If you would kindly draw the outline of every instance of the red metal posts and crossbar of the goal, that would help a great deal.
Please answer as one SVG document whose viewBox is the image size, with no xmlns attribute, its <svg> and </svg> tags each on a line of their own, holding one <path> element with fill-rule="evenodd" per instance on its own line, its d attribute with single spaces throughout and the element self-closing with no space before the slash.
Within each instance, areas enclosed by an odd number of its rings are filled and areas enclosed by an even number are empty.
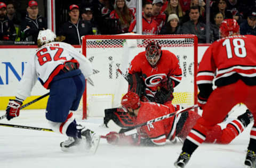
<svg viewBox="0 0 256 168">
<path fill-rule="evenodd" d="M 198 89 L 196 85 L 196 74 L 198 68 L 198 38 L 196 35 L 86 35 L 82 37 L 82 54 L 86 57 L 86 39 L 178 39 L 178 38 L 193 38 L 194 39 L 194 104 L 197 104 Z M 85 82 L 87 85 L 87 82 Z M 83 94 L 83 110 L 82 120 L 87 119 L 87 87 L 85 87 Z"/>
</svg>

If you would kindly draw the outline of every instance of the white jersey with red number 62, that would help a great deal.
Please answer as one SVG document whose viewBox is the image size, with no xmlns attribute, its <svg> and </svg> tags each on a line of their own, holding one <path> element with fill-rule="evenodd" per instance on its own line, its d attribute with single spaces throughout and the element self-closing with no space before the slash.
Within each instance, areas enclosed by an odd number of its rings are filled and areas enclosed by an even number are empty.
<svg viewBox="0 0 256 168">
<path fill-rule="evenodd" d="M 50 82 L 63 68 L 63 63 L 72 59 L 77 60 L 85 78 L 93 73 L 90 61 L 67 43 L 52 42 L 36 49 L 25 67 L 16 97 L 25 100 L 30 96 L 38 78 L 49 89 Z"/>
</svg>

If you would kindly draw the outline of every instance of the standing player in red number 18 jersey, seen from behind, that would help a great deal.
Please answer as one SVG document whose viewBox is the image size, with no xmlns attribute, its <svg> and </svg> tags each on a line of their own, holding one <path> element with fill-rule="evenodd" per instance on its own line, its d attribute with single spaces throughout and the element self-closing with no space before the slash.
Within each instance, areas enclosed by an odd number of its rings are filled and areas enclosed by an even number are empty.
<svg viewBox="0 0 256 168">
<path fill-rule="evenodd" d="M 234 19 L 224 20 L 220 25 L 220 33 L 223 38 L 206 50 L 199 64 L 198 105 L 203 109 L 203 114 L 187 136 L 182 152 L 174 163 L 176 167 L 186 166 L 191 154 L 205 141 L 207 132 L 223 121 L 236 104 L 245 104 L 253 114 L 254 121 L 256 119 L 256 37 L 239 35 L 239 26 Z M 215 79 L 214 72 L 217 74 Z M 213 81 L 217 86 L 214 90 Z M 244 125 L 250 122 L 242 120 Z M 256 167 L 255 130 L 254 123 L 244 162 L 247 167 Z"/>
</svg>

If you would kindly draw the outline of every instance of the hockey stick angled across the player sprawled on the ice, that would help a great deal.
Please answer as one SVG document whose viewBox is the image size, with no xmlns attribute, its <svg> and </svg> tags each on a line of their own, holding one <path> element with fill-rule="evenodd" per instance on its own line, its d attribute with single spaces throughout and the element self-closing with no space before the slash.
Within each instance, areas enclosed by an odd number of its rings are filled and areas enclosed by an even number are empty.
<svg viewBox="0 0 256 168">
<path fill-rule="evenodd" d="M 148 125 L 148 124 L 152 124 L 154 122 L 157 122 L 157 121 L 161 121 L 161 120 L 164 120 L 164 119 L 168 119 L 174 115 L 177 115 L 177 114 L 180 114 L 180 113 L 183 113 L 183 112 L 186 112 L 186 111 L 189 111 L 189 110 L 192 110 L 194 108 L 197 108 L 198 105 L 193 105 L 191 107 L 187 107 L 187 108 L 183 108 L 179 111 L 175 111 L 173 113 L 169 113 L 169 114 L 166 114 L 166 115 L 162 115 L 162 116 L 159 116 L 153 120 L 149 120 L 145 123 L 141 123 L 139 125 L 135 125 L 133 127 L 130 127 L 130 128 L 122 128 L 122 127 L 119 127 L 113 120 L 109 120 L 109 122 L 107 123 L 107 127 L 108 128 L 114 128 L 116 132 L 118 133 L 124 133 L 125 135 L 131 135 L 133 133 L 136 133 L 137 132 L 137 128 L 139 127 L 142 127 L 144 125 Z"/>
</svg>

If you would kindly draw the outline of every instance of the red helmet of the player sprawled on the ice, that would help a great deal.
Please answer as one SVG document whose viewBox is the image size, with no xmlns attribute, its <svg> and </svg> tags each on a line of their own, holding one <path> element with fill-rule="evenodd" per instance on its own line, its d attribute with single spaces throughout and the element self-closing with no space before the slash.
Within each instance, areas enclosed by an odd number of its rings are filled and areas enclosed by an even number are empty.
<svg viewBox="0 0 256 168">
<path fill-rule="evenodd" d="M 140 107 L 140 97 L 137 94 L 128 91 L 128 93 L 123 96 L 121 104 L 125 110 L 127 110 L 127 108 L 132 108 L 132 110 L 135 110 Z"/>
</svg>

